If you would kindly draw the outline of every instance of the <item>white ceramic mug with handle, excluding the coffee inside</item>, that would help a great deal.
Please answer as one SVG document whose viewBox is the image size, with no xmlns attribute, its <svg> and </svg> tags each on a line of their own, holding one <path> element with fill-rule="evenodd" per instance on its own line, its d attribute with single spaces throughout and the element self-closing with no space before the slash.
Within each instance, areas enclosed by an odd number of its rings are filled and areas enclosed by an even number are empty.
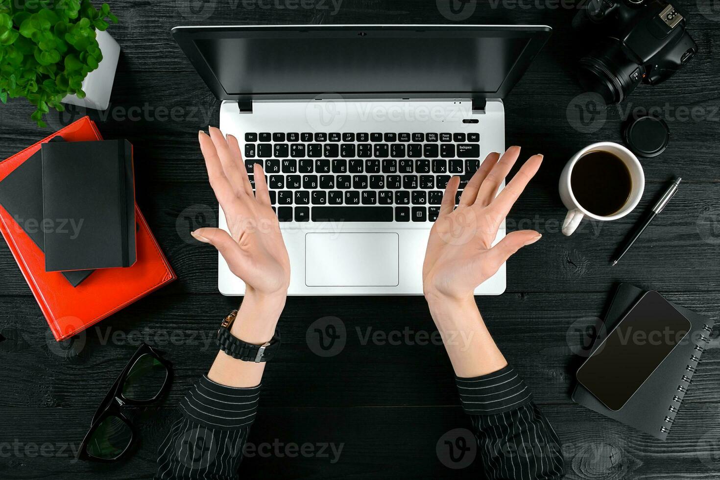
<svg viewBox="0 0 720 480">
<path fill-rule="evenodd" d="M 572 186 L 570 186 L 570 174 L 572 173 L 572 168 L 575 166 L 575 163 L 577 163 L 577 160 L 580 160 L 583 155 L 593 151 L 609 152 L 623 160 L 630 171 L 630 178 L 632 179 L 632 191 L 630 192 L 628 200 L 618 212 L 608 215 L 607 217 L 596 215 L 583 208 L 577 199 L 575 199 L 575 195 L 572 194 Z M 603 222 L 624 217 L 637 206 L 642 198 L 644 189 L 645 174 L 642 171 L 639 160 L 630 150 L 623 145 L 613 142 L 598 142 L 593 143 L 593 145 L 588 145 L 570 158 L 570 161 L 567 162 L 567 165 L 560 175 L 560 199 L 562 199 L 562 203 L 568 210 L 565 221 L 562 223 L 563 235 L 572 235 L 585 217 L 594 218 Z"/>
</svg>

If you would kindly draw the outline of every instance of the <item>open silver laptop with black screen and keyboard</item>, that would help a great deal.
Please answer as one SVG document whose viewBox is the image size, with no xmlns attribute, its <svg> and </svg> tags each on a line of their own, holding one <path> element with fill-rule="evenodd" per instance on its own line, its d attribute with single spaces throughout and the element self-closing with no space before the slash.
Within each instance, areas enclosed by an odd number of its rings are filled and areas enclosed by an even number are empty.
<svg viewBox="0 0 720 480">
<path fill-rule="evenodd" d="M 452 175 L 505 150 L 503 100 L 546 26 L 176 27 L 218 99 L 220 130 L 264 165 L 289 294 L 422 294 Z M 251 178 L 252 181 L 252 178 Z M 220 210 L 220 227 L 227 229 Z M 497 243 L 505 236 L 500 227 Z M 222 256 L 218 288 L 242 295 Z M 505 291 L 505 266 L 475 294 Z"/>
</svg>

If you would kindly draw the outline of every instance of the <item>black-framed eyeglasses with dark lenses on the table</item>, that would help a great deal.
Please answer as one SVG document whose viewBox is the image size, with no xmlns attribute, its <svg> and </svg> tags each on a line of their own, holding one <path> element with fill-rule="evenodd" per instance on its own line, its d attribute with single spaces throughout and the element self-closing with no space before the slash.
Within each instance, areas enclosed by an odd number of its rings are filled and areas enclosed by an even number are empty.
<svg viewBox="0 0 720 480">
<path fill-rule="evenodd" d="M 140 345 L 95 412 L 78 458 L 112 462 L 125 456 L 138 435 L 122 407 L 158 400 L 170 387 L 171 372 L 170 362 L 150 345 Z"/>
</svg>

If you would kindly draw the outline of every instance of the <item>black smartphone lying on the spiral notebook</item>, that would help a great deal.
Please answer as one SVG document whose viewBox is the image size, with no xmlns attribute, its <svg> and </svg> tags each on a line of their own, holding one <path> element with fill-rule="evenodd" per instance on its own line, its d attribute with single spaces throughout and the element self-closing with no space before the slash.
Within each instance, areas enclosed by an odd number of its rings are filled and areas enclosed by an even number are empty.
<svg viewBox="0 0 720 480">
<path fill-rule="evenodd" d="M 657 291 L 645 293 L 600 340 L 577 381 L 617 412 L 679 345 L 692 325 Z"/>
</svg>

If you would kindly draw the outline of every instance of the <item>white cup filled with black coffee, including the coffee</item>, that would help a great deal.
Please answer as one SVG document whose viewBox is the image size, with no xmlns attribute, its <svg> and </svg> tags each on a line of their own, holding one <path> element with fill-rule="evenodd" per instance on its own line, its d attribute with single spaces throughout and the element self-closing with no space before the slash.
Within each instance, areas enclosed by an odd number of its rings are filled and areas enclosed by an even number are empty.
<svg viewBox="0 0 720 480">
<path fill-rule="evenodd" d="M 572 155 L 560 175 L 560 199 L 567 216 L 563 235 L 572 235 L 585 217 L 601 222 L 632 212 L 642 198 L 645 175 L 623 145 L 598 142 Z"/>
</svg>

